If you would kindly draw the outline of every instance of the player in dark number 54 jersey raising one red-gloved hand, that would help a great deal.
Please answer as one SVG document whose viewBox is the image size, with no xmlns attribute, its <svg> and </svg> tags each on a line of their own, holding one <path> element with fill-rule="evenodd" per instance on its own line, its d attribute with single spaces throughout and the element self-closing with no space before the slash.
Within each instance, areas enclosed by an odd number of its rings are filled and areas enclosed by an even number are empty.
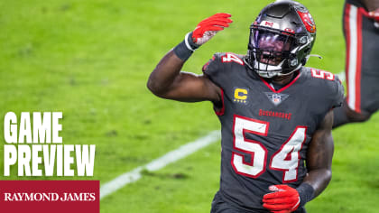
<svg viewBox="0 0 379 213">
<path fill-rule="evenodd" d="M 341 105 L 343 87 L 328 71 L 303 67 L 316 25 L 294 1 L 263 8 L 250 26 L 246 55 L 216 53 L 203 75 L 180 71 L 230 17 L 200 22 L 162 58 L 147 86 L 158 97 L 213 103 L 222 152 L 212 213 L 305 212 L 331 178 L 332 108 Z"/>
</svg>

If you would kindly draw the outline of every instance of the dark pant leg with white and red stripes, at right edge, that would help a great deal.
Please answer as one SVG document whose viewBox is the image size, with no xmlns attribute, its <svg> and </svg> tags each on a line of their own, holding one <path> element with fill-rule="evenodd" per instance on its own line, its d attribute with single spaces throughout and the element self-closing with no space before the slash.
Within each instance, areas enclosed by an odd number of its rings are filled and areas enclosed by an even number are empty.
<svg viewBox="0 0 379 213">
<path fill-rule="evenodd" d="M 379 28 L 359 8 L 347 4 L 344 12 L 347 105 L 356 112 L 374 113 L 379 108 Z"/>
</svg>

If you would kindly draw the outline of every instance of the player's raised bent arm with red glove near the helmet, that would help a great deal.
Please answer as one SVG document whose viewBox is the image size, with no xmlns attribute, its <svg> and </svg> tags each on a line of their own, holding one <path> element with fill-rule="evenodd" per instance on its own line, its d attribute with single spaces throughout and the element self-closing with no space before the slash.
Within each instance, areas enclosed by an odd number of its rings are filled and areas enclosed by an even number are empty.
<svg viewBox="0 0 379 213">
<path fill-rule="evenodd" d="M 203 20 L 193 32 L 186 35 L 183 42 L 162 58 L 147 82 L 147 87 L 153 94 L 187 102 L 210 100 L 217 103 L 221 100 L 220 88 L 206 75 L 196 75 L 180 69 L 194 50 L 232 22 L 230 16 L 214 14 Z"/>
</svg>

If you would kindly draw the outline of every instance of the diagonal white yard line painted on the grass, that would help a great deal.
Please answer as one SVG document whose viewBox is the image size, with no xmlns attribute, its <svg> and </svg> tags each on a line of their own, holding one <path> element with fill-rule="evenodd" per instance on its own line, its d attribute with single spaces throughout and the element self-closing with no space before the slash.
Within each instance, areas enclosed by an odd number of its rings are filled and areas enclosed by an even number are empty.
<svg viewBox="0 0 379 213">
<path fill-rule="evenodd" d="M 178 149 L 164 154 L 162 157 L 153 160 L 153 162 L 149 162 L 143 166 L 135 168 L 133 171 L 127 171 L 124 174 L 121 174 L 116 177 L 116 179 L 106 182 L 100 187 L 100 199 L 104 199 L 106 196 L 114 193 L 116 190 L 120 190 L 131 182 L 138 181 L 142 177 L 141 171 L 160 170 L 171 162 L 177 162 L 180 159 L 187 157 L 189 154 L 195 153 L 199 149 L 217 142 L 220 138 L 220 131 L 212 131 L 194 142 L 184 144 Z"/>
</svg>

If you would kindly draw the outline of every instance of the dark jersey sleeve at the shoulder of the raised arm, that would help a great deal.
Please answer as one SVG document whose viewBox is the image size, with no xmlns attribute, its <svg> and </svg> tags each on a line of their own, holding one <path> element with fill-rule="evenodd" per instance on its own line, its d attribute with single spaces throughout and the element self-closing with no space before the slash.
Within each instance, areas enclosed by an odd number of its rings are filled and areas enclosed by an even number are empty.
<svg viewBox="0 0 379 213">
<path fill-rule="evenodd" d="M 221 87 L 223 80 L 225 77 L 224 74 L 224 66 L 221 62 L 222 53 L 215 53 L 212 56 L 212 59 L 208 60 L 206 64 L 203 66 L 203 73 L 208 76 L 208 78 L 215 83 L 218 87 Z"/>
</svg>

